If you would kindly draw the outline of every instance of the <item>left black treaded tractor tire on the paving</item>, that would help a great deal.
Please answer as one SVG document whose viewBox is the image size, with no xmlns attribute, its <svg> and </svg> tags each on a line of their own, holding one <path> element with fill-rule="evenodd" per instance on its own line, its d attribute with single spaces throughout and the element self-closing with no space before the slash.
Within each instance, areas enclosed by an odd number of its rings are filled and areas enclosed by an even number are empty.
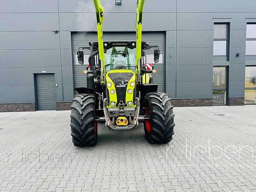
<svg viewBox="0 0 256 192">
<path fill-rule="evenodd" d="M 98 124 L 95 116 L 95 95 L 75 95 L 71 105 L 71 135 L 74 146 L 84 147 L 97 143 Z"/>
</svg>

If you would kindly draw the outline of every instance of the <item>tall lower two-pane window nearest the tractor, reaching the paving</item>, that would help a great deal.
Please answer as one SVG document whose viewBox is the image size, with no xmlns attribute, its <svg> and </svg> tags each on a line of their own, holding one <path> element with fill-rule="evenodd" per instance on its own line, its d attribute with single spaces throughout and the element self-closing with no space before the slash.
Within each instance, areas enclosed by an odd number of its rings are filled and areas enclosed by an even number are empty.
<svg viewBox="0 0 256 192">
<path fill-rule="evenodd" d="M 213 67 L 212 104 L 227 104 L 227 67 Z"/>
</svg>

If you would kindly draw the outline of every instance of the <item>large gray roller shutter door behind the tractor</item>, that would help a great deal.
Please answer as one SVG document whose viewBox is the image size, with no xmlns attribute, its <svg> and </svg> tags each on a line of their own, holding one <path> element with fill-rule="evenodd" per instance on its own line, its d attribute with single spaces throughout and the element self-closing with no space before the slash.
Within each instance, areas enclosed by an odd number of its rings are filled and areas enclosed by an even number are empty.
<svg viewBox="0 0 256 192">
<path fill-rule="evenodd" d="M 104 32 L 104 41 L 115 40 L 136 40 L 136 34 L 133 32 Z M 150 45 L 158 45 L 161 51 L 162 63 L 153 64 L 154 69 L 157 70 L 156 74 L 152 74 L 154 83 L 158 84 L 158 91 L 165 92 L 165 49 L 166 38 L 165 32 L 143 32 L 142 40 L 148 42 Z M 88 42 L 97 41 L 96 32 L 72 32 L 71 33 L 71 47 L 73 58 L 73 83 L 74 88 L 86 86 L 86 75 L 83 74 L 83 70 L 86 65 L 76 65 L 75 55 L 78 51 L 78 47 L 89 46 Z M 146 61 L 150 63 L 152 61 L 152 54 L 154 54 L 154 48 L 146 50 Z M 90 55 L 89 50 L 84 50 L 84 55 Z M 148 56 L 147 56 L 148 55 Z M 148 62 L 149 61 L 149 62 Z"/>
</svg>

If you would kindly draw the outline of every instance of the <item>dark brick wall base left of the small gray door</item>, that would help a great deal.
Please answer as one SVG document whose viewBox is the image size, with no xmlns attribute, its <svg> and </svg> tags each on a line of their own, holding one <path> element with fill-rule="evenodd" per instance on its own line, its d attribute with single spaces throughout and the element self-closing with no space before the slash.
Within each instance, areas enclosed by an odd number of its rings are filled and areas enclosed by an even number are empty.
<svg viewBox="0 0 256 192">
<path fill-rule="evenodd" d="M 36 111 L 35 103 L 0 103 L 0 112 Z"/>
</svg>

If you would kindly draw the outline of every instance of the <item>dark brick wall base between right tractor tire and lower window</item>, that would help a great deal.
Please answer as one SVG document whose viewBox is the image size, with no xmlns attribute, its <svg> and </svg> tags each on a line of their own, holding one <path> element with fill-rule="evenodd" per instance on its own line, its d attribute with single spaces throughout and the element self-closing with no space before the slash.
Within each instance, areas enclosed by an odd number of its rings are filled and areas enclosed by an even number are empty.
<svg viewBox="0 0 256 192">
<path fill-rule="evenodd" d="M 201 107 L 212 106 L 212 98 L 202 99 L 172 99 L 174 107 Z"/>
</svg>

